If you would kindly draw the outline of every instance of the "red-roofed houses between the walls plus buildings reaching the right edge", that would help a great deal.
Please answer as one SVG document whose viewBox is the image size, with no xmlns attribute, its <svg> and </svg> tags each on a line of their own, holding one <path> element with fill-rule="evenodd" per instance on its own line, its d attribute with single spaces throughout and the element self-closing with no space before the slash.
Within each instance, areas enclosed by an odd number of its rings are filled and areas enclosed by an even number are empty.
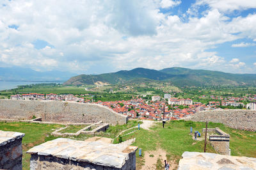
<svg viewBox="0 0 256 170">
<path fill-rule="evenodd" d="M 209 104 L 202 104 L 201 102 L 193 102 L 190 98 L 172 98 L 170 95 L 164 95 L 164 99 L 168 98 L 168 105 L 165 100 L 161 100 L 160 96 L 153 96 L 151 102 L 143 100 L 142 98 L 132 98 L 131 100 L 120 100 L 115 102 L 102 102 L 98 101 L 95 104 L 105 105 L 120 114 L 125 114 L 131 118 L 140 118 L 147 120 L 179 120 L 186 116 L 193 115 L 195 112 L 205 110 L 221 110 L 220 105 L 234 105 L 240 106 L 241 102 L 232 100 L 233 97 L 222 98 L 225 99 L 221 102 L 210 101 Z M 216 98 L 217 99 L 217 98 Z M 246 105 L 246 109 L 256 110 L 256 96 L 250 98 L 254 101 Z M 88 101 L 89 102 L 89 101 Z M 180 105 L 186 108 L 180 109 Z M 242 105 L 244 107 L 244 104 Z"/>
</svg>

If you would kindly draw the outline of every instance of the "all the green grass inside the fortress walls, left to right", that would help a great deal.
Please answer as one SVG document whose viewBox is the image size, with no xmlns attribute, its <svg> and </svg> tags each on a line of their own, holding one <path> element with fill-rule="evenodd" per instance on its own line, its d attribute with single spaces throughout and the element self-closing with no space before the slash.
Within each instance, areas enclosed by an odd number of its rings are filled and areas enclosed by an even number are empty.
<svg viewBox="0 0 256 170">
<path fill-rule="evenodd" d="M 129 121 L 126 125 L 110 126 L 106 132 L 100 132 L 98 136 L 110 137 L 118 139 L 117 135 L 122 130 L 132 128 L 138 125 L 138 121 Z M 178 162 L 184 151 L 204 151 L 204 141 L 194 141 L 192 135 L 189 134 L 190 126 L 193 130 L 202 132 L 202 128 L 205 127 L 205 123 L 191 123 L 186 121 L 170 121 L 166 123 L 164 128 L 161 123 L 156 123 L 156 126 L 151 130 L 138 130 L 132 128 L 127 130 L 124 134 L 133 132 L 129 135 L 122 135 L 123 141 L 131 138 L 136 138 L 134 146 L 138 146 L 142 149 L 144 155 L 145 151 L 157 150 L 162 148 L 166 151 L 166 157 L 168 160 L 174 160 Z M 0 130 L 22 132 L 26 135 L 22 140 L 23 153 L 22 158 L 24 169 L 29 169 L 30 155 L 25 152 L 38 144 L 44 143 L 57 137 L 53 137 L 50 133 L 56 128 L 63 127 L 61 125 L 42 125 L 38 123 L 3 123 L 0 122 Z M 236 156 L 256 157 L 256 132 L 248 132 L 244 130 L 235 130 L 233 128 L 226 127 L 221 123 L 209 123 L 209 128 L 220 127 L 221 130 L 230 134 L 230 149 L 231 154 Z M 80 129 L 80 126 L 74 126 L 74 130 Z M 76 131 L 74 130 L 74 131 Z M 73 132 L 73 131 L 72 131 Z M 77 137 L 69 137 L 71 139 L 84 140 L 92 135 L 78 135 Z M 118 143 L 118 140 L 116 140 Z M 207 144 L 207 152 L 216 153 L 210 144 Z M 153 155 L 154 156 L 154 155 Z M 143 165 L 143 157 L 138 157 L 138 151 L 136 153 L 136 164 L 138 167 Z M 159 162 L 160 163 L 160 162 Z M 156 168 L 161 169 L 159 164 Z"/>
</svg>

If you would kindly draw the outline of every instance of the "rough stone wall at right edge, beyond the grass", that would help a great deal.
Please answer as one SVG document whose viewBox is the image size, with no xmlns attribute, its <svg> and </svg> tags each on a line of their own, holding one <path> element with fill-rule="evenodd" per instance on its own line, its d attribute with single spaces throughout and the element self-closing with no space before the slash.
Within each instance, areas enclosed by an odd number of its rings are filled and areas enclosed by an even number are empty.
<svg viewBox="0 0 256 170">
<path fill-rule="evenodd" d="M 250 110 L 201 111 L 187 120 L 211 121 L 231 128 L 256 131 L 256 111 Z"/>
</svg>

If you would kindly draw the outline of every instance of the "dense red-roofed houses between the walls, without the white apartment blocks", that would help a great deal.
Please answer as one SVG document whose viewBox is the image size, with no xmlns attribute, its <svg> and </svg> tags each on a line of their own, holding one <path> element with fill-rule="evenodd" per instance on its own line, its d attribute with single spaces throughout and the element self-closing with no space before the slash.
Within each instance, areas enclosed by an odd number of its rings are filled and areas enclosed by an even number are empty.
<svg viewBox="0 0 256 170">
<path fill-rule="evenodd" d="M 156 101 L 148 103 L 142 98 L 132 98 L 131 100 L 120 100 L 115 102 L 98 101 L 95 104 L 104 105 L 114 111 L 127 115 L 131 118 L 143 120 L 179 120 L 186 116 L 195 114 L 198 111 L 204 111 L 207 106 L 201 103 L 186 105 L 188 108 L 180 109 L 179 105 L 166 104 L 166 101 Z M 214 108 L 211 108 L 214 109 Z"/>
</svg>

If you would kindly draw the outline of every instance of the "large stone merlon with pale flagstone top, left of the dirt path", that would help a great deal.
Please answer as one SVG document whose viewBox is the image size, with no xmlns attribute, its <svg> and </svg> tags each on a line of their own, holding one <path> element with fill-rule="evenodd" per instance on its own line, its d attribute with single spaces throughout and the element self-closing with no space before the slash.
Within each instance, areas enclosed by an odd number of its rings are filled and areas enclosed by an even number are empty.
<svg viewBox="0 0 256 170">
<path fill-rule="evenodd" d="M 80 164 L 84 165 L 84 168 L 92 165 L 93 168 L 100 166 L 113 169 L 135 169 L 134 160 L 137 149 L 137 146 L 127 146 L 125 144 L 58 138 L 35 146 L 27 153 L 31 154 L 31 165 L 33 165 L 31 169 L 36 169 L 35 167 L 42 168 L 40 159 L 44 160 L 44 164 L 49 164 L 50 167 L 58 167 L 58 164 L 60 164 L 58 159 L 63 159 L 68 160 L 67 167 L 72 167 L 71 162 L 73 162 L 72 164 L 75 162 L 76 166 Z M 56 164 L 47 162 L 46 160 L 49 158 L 52 159 L 51 162 Z M 63 162 L 63 160 L 61 161 Z"/>
</svg>

